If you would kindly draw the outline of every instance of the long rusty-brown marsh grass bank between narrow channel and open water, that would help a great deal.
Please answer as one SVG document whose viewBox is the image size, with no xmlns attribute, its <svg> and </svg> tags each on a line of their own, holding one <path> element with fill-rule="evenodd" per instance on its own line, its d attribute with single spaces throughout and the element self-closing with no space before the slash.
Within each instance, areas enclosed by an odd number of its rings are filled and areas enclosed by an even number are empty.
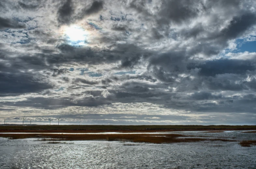
<svg viewBox="0 0 256 169">
<path fill-rule="evenodd" d="M 38 138 L 41 141 L 107 140 L 134 143 L 181 143 L 198 141 L 234 141 L 221 138 L 198 138 L 181 134 L 0 134 L 9 139 Z"/>
</svg>

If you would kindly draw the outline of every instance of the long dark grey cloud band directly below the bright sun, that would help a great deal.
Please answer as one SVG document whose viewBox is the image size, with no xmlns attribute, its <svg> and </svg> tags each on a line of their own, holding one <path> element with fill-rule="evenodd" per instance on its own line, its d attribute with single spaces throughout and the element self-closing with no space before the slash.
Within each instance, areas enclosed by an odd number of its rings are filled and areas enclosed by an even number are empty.
<svg viewBox="0 0 256 169">
<path fill-rule="evenodd" d="M 58 45 L 61 53 L 42 53 L 36 56 L 42 62 L 47 60 L 48 64 L 64 64 L 72 62 L 80 62 L 87 64 L 114 63 L 121 60 L 119 69 L 133 68 L 141 62 L 141 59 L 149 58 L 152 53 L 149 50 L 141 49 L 133 44 L 117 44 L 111 46 L 112 49 L 101 50 L 95 47 L 74 47 L 68 44 Z M 24 56 L 26 58 L 26 56 Z M 44 62 L 45 63 L 45 62 Z"/>
</svg>

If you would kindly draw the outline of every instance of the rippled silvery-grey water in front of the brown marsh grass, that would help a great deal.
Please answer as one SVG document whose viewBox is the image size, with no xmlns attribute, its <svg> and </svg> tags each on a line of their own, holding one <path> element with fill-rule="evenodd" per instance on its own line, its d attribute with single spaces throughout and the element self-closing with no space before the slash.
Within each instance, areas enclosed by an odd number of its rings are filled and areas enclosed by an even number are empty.
<svg viewBox="0 0 256 169">
<path fill-rule="evenodd" d="M 239 144 L 242 140 L 256 140 L 255 133 L 192 131 L 167 134 L 207 140 L 151 144 L 0 138 L 0 168 L 256 168 L 256 146 Z"/>
</svg>

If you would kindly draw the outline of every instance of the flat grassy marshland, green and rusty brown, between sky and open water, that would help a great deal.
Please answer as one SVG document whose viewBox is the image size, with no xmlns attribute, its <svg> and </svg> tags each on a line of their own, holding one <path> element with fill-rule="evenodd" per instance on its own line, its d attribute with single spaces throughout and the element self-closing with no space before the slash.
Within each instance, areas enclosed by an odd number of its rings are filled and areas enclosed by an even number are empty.
<svg viewBox="0 0 256 169">
<path fill-rule="evenodd" d="M 233 138 L 210 138 L 208 136 L 188 136 L 179 132 L 203 131 L 207 133 L 221 133 L 227 130 L 256 130 L 255 125 L 0 125 L 0 137 L 8 139 L 37 138 L 46 143 L 64 143 L 63 141 L 77 140 L 107 140 L 129 141 L 134 143 L 184 143 L 198 141 L 228 141 L 238 142 Z M 102 134 L 101 132 L 120 132 L 118 134 Z M 125 134 L 131 133 L 132 134 Z M 144 134 L 141 134 L 141 133 Z M 254 133 L 253 131 L 248 131 Z M 16 133 L 16 134 L 15 134 Z M 18 134 L 17 134 L 18 133 Z M 57 134 L 64 133 L 64 134 Z M 71 134 L 74 133 L 74 134 Z M 78 133 L 78 134 L 76 134 Z M 80 134 L 79 134 L 80 133 Z M 82 134 L 81 134 L 82 133 Z M 98 133 L 98 134 L 89 134 Z M 48 141 L 48 142 L 47 142 Z M 65 142 L 69 144 L 69 142 Z M 255 146 L 255 140 L 243 140 L 239 143 L 243 147 Z"/>
</svg>

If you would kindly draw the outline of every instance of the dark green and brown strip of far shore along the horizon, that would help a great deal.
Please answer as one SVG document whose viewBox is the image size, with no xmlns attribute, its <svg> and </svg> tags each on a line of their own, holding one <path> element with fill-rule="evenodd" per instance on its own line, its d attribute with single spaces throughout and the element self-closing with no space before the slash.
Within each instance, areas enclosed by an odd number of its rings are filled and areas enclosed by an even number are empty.
<svg viewBox="0 0 256 169">
<path fill-rule="evenodd" d="M 0 125 L 0 133 L 99 133 L 256 130 L 256 125 Z"/>
</svg>

